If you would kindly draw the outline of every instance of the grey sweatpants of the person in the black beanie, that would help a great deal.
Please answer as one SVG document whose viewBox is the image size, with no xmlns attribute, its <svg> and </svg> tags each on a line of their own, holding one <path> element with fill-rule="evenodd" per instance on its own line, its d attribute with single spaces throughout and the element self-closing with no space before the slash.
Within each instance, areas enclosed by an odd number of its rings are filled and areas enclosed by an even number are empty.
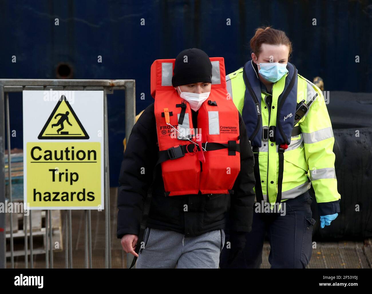
<svg viewBox="0 0 372 294">
<path fill-rule="evenodd" d="M 143 242 L 137 268 L 218 268 L 225 232 L 185 238 L 174 231 L 146 228 Z"/>
</svg>

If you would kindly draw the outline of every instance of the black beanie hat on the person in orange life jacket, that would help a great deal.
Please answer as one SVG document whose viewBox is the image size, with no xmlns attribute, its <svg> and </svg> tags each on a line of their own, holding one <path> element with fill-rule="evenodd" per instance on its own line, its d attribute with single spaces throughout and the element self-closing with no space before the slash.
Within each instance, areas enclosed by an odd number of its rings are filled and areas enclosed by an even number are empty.
<svg viewBox="0 0 372 294">
<path fill-rule="evenodd" d="M 173 87 L 212 82 L 212 63 L 201 49 L 186 49 L 177 55 L 172 77 Z"/>
</svg>

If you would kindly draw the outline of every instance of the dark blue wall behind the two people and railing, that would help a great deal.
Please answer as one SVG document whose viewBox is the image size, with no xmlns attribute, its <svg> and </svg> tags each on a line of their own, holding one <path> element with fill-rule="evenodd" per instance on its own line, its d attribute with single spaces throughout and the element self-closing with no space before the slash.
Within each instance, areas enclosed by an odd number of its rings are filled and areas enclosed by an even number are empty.
<svg viewBox="0 0 372 294">
<path fill-rule="evenodd" d="M 249 40 L 262 25 L 288 34 L 291 61 L 307 79 L 321 76 L 326 90 L 372 92 L 371 1 L 1 1 L 0 77 L 53 79 L 67 62 L 74 79 L 135 79 L 138 113 L 153 102 L 155 59 L 197 47 L 224 57 L 231 72 L 248 60 Z M 112 186 L 125 136 L 123 95 L 108 96 Z M 11 144 L 22 148 L 21 95 L 10 98 Z"/>
</svg>

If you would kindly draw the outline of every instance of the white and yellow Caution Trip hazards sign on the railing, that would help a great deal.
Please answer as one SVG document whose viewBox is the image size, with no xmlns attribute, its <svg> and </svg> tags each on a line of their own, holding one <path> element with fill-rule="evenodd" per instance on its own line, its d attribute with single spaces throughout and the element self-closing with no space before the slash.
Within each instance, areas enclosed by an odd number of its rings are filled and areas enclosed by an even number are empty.
<svg viewBox="0 0 372 294">
<path fill-rule="evenodd" d="M 103 91 L 23 91 L 29 209 L 103 210 Z"/>
</svg>

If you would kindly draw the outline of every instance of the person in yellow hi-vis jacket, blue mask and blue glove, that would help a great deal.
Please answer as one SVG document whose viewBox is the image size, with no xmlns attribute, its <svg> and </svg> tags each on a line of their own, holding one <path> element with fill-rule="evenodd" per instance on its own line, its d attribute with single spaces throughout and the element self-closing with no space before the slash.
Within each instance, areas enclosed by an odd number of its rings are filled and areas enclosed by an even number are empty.
<svg viewBox="0 0 372 294">
<path fill-rule="evenodd" d="M 258 28 L 250 46 L 252 59 L 226 77 L 247 127 L 256 178 L 252 231 L 231 267 L 259 268 L 267 234 L 272 268 L 305 268 L 315 224 L 311 184 L 321 228 L 340 212 L 332 125 L 321 90 L 289 62 L 285 32 Z"/>
</svg>

